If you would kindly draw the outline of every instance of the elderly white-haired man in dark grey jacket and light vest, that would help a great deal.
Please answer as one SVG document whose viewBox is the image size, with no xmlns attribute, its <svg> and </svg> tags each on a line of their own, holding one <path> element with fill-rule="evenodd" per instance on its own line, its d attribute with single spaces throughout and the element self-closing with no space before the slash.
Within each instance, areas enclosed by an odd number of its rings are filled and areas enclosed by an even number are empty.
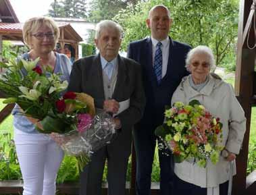
<svg viewBox="0 0 256 195">
<path fill-rule="evenodd" d="M 69 90 L 93 96 L 95 106 L 115 115 L 118 136 L 93 154 L 80 175 L 80 195 L 100 195 L 107 159 L 109 195 L 124 195 L 126 171 L 132 141 L 132 126 L 140 120 L 145 94 L 140 65 L 120 57 L 122 28 L 104 20 L 96 26 L 95 45 L 99 55 L 84 57 L 73 64 Z"/>
</svg>

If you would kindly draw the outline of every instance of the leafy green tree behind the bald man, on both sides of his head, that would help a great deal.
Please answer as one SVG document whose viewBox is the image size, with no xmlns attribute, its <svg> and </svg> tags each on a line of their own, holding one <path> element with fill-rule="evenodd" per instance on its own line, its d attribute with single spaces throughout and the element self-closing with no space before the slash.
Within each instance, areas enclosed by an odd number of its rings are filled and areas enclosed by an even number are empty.
<svg viewBox="0 0 256 195">
<path fill-rule="evenodd" d="M 216 64 L 230 53 L 234 56 L 237 35 L 237 0 L 152 0 L 122 9 L 114 18 L 124 28 L 122 49 L 130 41 L 150 36 L 145 20 L 151 7 L 163 4 L 170 8 L 174 19 L 170 35 L 193 47 L 208 45 L 213 49 Z"/>
</svg>

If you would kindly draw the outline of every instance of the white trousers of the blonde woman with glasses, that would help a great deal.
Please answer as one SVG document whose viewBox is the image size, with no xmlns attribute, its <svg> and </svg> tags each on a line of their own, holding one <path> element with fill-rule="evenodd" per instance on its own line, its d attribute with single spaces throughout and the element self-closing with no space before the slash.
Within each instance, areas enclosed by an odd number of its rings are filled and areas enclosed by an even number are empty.
<svg viewBox="0 0 256 195">
<path fill-rule="evenodd" d="M 23 195 L 55 195 L 63 150 L 47 134 L 14 130 L 14 142 L 24 181 Z"/>
</svg>

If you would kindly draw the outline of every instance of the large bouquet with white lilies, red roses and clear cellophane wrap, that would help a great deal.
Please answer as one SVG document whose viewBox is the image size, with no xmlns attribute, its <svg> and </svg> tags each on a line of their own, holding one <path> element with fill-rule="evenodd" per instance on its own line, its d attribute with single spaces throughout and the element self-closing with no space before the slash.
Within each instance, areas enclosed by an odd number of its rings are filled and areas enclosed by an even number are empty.
<svg viewBox="0 0 256 195">
<path fill-rule="evenodd" d="M 37 130 L 52 134 L 52 138 L 68 154 L 78 159 L 80 169 L 89 161 L 92 152 L 101 148 L 116 133 L 113 119 L 107 113 L 95 115 L 93 98 L 88 94 L 63 91 L 67 81 L 61 74 L 53 74 L 49 66 L 43 68 L 24 59 L 0 62 L 5 73 L 0 76 L 3 103 L 17 103 L 21 115 L 38 119 Z"/>
</svg>

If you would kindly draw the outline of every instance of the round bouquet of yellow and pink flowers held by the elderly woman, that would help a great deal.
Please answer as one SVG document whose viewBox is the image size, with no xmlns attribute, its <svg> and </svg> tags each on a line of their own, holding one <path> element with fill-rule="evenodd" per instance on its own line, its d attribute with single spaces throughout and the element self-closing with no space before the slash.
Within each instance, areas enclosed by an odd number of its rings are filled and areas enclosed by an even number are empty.
<svg viewBox="0 0 256 195">
<path fill-rule="evenodd" d="M 193 160 L 206 167 L 208 160 L 213 164 L 219 161 L 223 149 L 220 119 L 195 100 L 188 105 L 176 102 L 172 108 L 165 109 L 165 121 L 155 134 L 172 150 L 176 163 Z"/>
</svg>

